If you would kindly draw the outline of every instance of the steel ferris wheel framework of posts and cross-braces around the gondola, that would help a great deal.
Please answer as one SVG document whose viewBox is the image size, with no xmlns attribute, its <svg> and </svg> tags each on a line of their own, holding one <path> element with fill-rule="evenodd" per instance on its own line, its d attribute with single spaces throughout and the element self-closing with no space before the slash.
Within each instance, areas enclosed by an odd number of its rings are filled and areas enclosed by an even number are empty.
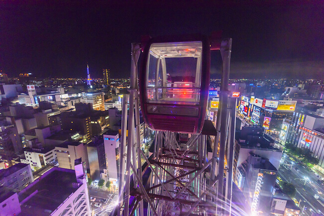
<svg viewBox="0 0 324 216">
<path fill-rule="evenodd" d="M 130 95 L 123 99 L 122 112 L 122 145 L 120 148 L 121 163 L 119 172 L 119 209 L 124 203 L 123 215 L 145 216 L 144 200 L 148 202 L 148 215 L 208 215 L 210 211 L 216 215 L 227 215 L 225 202 L 231 202 L 233 140 L 235 136 L 235 108 L 233 100 L 228 99 L 228 75 L 231 56 L 232 40 L 221 42 L 220 51 L 223 60 L 222 84 L 220 91 L 220 106 L 217 114 L 217 135 L 214 139 L 213 158 L 207 162 L 207 136 L 193 134 L 184 144 L 176 140 L 176 133 L 171 131 L 157 131 L 152 159 L 148 159 L 141 149 L 140 121 L 139 121 L 139 92 L 137 63 L 140 55 L 139 44 L 132 44 L 131 88 Z M 129 110 L 127 110 L 129 99 Z M 231 101 L 229 106 L 228 101 Z M 129 118 L 127 122 L 127 112 Z M 234 115 L 233 115 L 234 113 Z M 233 125 L 234 124 L 234 125 Z M 128 126 L 128 140 L 126 146 L 126 129 Z M 218 152 L 219 142 L 219 155 Z M 223 190 L 224 157 L 227 144 L 228 167 L 226 188 Z M 127 154 L 126 153 L 127 149 Z M 124 156 L 126 155 L 126 164 Z M 217 160 L 219 157 L 219 160 Z M 150 185 L 145 188 L 142 179 L 142 163 L 144 159 L 152 172 Z M 218 165 L 217 165 L 218 164 Z M 217 175 L 215 175 L 218 167 Z M 126 172 L 125 169 L 126 168 Z M 210 169 L 208 169 L 210 168 Z M 144 171 L 146 170 L 144 169 Z M 133 171 L 134 187 L 130 188 L 131 171 Z M 125 187 L 124 183 L 125 173 Z M 210 179 L 207 178 L 210 173 Z M 217 184 L 216 184 L 217 183 Z M 122 190 L 124 188 L 124 190 Z M 226 193 L 225 193 L 226 192 Z M 130 196 L 136 197 L 136 202 L 130 212 Z M 124 197 L 122 201 L 121 198 Z M 212 201 L 212 202 L 210 202 Z M 227 206 L 226 206 L 227 207 Z M 231 206 L 229 206 L 231 208 Z M 121 211 L 119 210 L 118 215 Z"/>
</svg>

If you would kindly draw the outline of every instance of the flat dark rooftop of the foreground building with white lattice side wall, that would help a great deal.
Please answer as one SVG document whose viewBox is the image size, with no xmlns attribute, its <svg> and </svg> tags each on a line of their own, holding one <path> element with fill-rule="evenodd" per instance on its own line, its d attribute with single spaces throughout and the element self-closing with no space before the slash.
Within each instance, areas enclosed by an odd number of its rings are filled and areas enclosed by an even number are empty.
<svg viewBox="0 0 324 216">
<path fill-rule="evenodd" d="M 18 194 L 23 216 L 53 213 L 77 190 L 74 170 L 54 167 Z"/>
</svg>

